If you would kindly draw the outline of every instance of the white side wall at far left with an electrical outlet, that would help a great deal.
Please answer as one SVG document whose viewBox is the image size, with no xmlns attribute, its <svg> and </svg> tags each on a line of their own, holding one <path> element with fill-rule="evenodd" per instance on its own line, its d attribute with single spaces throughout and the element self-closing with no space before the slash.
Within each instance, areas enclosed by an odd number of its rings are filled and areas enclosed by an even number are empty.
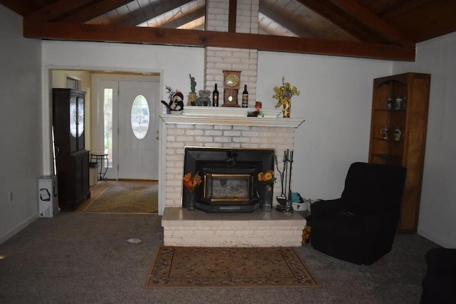
<svg viewBox="0 0 456 304">
<path fill-rule="evenodd" d="M 41 176 L 41 41 L 0 5 L 0 243 L 38 216 Z M 9 201 L 9 192 L 13 200 Z"/>
</svg>

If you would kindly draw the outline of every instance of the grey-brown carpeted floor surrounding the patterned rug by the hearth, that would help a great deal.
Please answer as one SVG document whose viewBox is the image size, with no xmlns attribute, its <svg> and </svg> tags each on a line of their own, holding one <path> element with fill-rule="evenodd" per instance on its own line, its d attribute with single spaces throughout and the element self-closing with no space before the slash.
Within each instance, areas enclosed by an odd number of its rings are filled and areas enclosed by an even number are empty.
<svg viewBox="0 0 456 304">
<path fill-rule="evenodd" d="M 393 250 L 371 266 L 326 256 L 310 244 L 294 248 L 316 288 L 145 288 L 163 245 L 161 219 L 100 212 L 36 219 L 0 244 L 0 303 L 416 304 L 425 253 L 437 246 L 416 234 L 398 235 Z"/>
</svg>

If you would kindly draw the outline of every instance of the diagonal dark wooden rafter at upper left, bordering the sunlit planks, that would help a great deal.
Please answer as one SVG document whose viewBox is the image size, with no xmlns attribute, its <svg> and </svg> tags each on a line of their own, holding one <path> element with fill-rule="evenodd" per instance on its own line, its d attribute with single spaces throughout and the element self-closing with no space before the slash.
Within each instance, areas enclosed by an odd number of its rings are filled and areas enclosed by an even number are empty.
<svg viewBox="0 0 456 304">
<path fill-rule="evenodd" d="M 90 21 L 100 15 L 103 15 L 108 11 L 113 11 L 113 9 L 117 9 L 120 6 L 128 4 L 131 1 L 132 0 L 92 1 L 92 3 L 90 3 L 90 5 L 85 6 L 80 11 L 75 11 L 73 14 L 59 19 L 59 21 L 84 23 L 84 22 Z"/>
</svg>

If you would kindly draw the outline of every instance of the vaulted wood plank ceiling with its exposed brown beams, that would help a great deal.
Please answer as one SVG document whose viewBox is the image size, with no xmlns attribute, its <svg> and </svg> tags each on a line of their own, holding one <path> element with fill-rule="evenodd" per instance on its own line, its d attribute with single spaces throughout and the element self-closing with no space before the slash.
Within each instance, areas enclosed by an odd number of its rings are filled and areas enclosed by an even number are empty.
<svg viewBox="0 0 456 304">
<path fill-rule="evenodd" d="M 229 1 L 231 7 L 236 0 Z M 456 31 L 455 0 L 259 0 L 259 34 L 204 31 L 205 0 L 0 0 L 28 38 L 254 48 L 415 60 Z M 230 9 L 229 23 L 235 24 Z"/>
</svg>

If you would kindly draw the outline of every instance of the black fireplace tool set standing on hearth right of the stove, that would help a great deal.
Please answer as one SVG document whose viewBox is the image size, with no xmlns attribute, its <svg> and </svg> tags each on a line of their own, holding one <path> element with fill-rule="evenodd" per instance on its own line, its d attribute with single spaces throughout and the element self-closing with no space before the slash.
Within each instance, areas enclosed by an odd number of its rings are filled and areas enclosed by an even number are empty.
<svg viewBox="0 0 456 304">
<path fill-rule="evenodd" d="M 293 205 L 291 204 L 291 165 L 293 164 L 293 150 L 287 149 L 284 151 L 283 169 L 280 171 L 279 162 L 274 155 L 277 171 L 280 174 L 281 194 L 276 197 L 279 205 L 276 206 L 277 211 L 283 211 L 285 214 L 293 213 Z M 288 191 L 287 191 L 288 188 Z"/>
</svg>

